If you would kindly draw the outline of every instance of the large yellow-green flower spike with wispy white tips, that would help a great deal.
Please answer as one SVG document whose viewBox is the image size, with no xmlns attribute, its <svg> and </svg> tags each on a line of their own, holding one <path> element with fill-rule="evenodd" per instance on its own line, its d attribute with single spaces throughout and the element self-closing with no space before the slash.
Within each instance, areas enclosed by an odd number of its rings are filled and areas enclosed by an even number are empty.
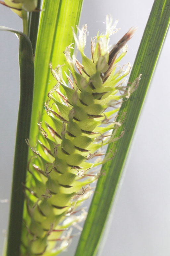
<svg viewBox="0 0 170 256">
<path fill-rule="evenodd" d="M 121 99 L 129 98 L 140 78 L 131 86 L 123 85 L 130 64 L 117 67 L 133 30 L 109 52 L 109 36 L 115 33 L 115 26 L 107 17 L 106 34 L 91 41 L 91 59 L 84 54 L 86 26 L 79 29 L 78 39 L 74 34 L 83 64 L 75 56 L 71 58 L 71 46 L 67 47 L 69 85 L 62 78 L 62 66 L 53 69 L 50 64 L 57 84 L 48 93 L 44 106 L 48 122 L 38 124 L 40 134 L 36 147 L 31 148 L 34 154 L 23 185 L 22 256 L 52 256 L 68 246 L 74 235 L 68 228 L 86 216 L 78 206 L 92 193 L 90 184 L 102 175 L 97 167 L 114 157 L 115 150 L 108 156 L 101 148 L 123 136 L 115 137 L 125 118 L 124 113 L 117 122 L 117 111 Z"/>
</svg>

